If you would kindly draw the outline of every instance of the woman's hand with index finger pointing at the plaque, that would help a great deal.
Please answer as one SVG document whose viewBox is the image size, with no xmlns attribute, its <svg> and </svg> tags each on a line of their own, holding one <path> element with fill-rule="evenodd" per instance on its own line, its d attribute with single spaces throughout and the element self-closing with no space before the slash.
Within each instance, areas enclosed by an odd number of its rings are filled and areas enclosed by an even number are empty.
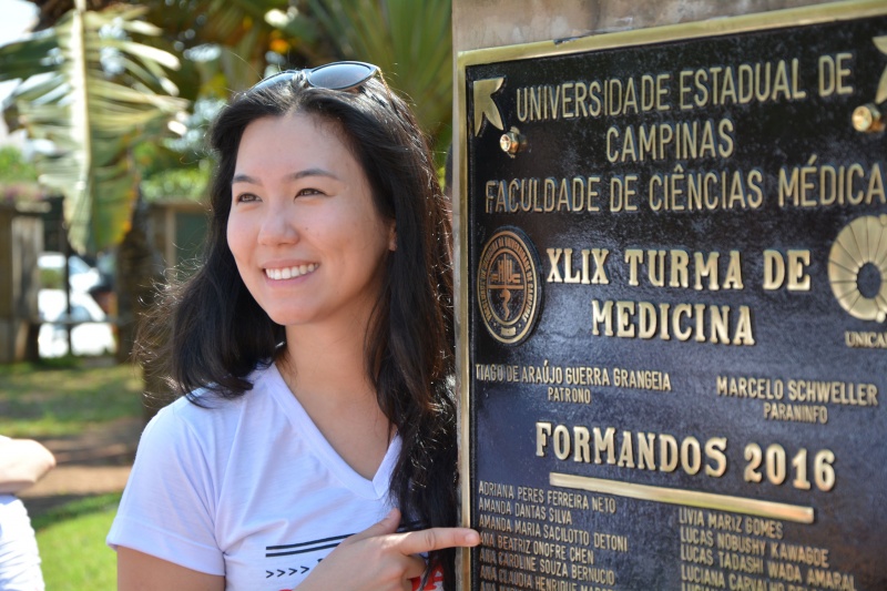
<svg viewBox="0 0 887 591">
<path fill-rule="evenodd" d="M 298 591 L 411 591 L 410 579 L 427 567 L 420 556 L 443 548 L 470 548 L 480 543 L 468 528 L 431 528 L 396 533 L 400 511 L 392 509 L 381 521 L 355 533 L 333 550 L 298 585 Z"/>
</svg>

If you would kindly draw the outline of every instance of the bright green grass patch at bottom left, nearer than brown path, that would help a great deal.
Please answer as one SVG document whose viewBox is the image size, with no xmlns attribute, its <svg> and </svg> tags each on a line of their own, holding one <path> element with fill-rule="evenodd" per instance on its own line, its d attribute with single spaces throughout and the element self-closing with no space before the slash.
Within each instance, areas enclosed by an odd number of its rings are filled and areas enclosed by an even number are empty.
<svg viewBox="0 0 887 591">
<path fill-rule="evenodd" d="M 116 589 L 116 554 L 104 539 L 119 502 L 120 495 L 103 495 L 73 501 L 33 520 L 47 589 Z"/>
</svg>

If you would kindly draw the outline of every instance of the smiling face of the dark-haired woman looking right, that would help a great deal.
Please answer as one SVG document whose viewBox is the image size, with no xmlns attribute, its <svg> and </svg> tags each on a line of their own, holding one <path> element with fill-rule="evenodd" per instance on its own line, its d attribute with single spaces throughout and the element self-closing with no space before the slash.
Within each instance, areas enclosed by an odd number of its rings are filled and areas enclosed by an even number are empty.
<svg viewBox="0 0 887 591">
<path fill-rule="evenodd" d="M 227 241 L 259 306 L 281 325 L 365 323 L 395 224 L 360 164 L 323 119 L 264 118 L 241 139 Z"/>
</svg>

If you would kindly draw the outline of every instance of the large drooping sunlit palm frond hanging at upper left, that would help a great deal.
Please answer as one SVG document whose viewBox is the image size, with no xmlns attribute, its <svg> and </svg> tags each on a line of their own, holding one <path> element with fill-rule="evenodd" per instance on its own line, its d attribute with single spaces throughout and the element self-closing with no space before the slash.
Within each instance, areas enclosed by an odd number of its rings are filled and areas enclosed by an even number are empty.
<svg viewBox="0 0 887 591">
<path fill-rule="evenodd" d="M 57 152 L 37 163 L 40 183 L 65 196 L 69 241 L 81 253 L 122 240 L 139 182 L 130 147 L 163 136 L 187 106 L 166 75 L 179 59 L 136 40 L 160 33 L 144 13 L 78 7 L 51 29 L 0 47 L 0 80 L 24 80 L 4 116 L 11 129 L 53 142 Z"/>
</svg>

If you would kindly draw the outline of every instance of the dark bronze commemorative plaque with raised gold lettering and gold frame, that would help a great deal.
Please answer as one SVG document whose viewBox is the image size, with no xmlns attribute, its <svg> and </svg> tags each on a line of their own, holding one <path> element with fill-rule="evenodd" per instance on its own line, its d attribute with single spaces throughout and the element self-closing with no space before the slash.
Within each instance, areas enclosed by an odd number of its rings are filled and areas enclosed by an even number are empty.
<svg viewBox="0 0 887 591">
<path fill-rule="evenodd" d="M 887 3 L 458 74 L 465 588 L 887 589 Z"/>
</svg>

